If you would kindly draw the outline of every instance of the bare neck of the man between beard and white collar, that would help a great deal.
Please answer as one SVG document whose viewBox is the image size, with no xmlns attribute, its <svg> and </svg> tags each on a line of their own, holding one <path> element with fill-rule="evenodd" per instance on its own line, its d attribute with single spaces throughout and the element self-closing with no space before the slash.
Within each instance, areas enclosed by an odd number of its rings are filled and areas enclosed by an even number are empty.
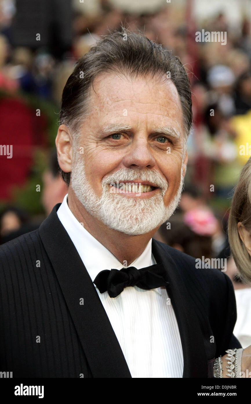
<svg viewBox="0 0 251 404">
<path fill-rule="evenodd" d="M 104 247 L 106 247 L 120 263 L 129 266 L 145 250 L 149 240 L 152 238 L 157 228 L 147 234 L 130 236 L 120 231 L 110 229 L 102 221 L 90 215 L 83 205 L 76 198 L 71 187 L 68 191 L 68 206 L 76 217 L 83 223 L 83 227 Z"/>
</svg>

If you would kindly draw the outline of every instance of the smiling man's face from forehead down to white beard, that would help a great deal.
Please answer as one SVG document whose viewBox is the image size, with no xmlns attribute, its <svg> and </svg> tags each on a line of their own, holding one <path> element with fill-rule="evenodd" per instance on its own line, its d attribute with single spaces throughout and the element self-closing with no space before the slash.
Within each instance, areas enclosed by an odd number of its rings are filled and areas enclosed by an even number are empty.
<svg viewBox="0 0 251 404">
<path fill-rule="evenodd" d="M 127 217 L 133 228 L 137 220 L 147 221 L 144 213 L 149 223 L 149 214 L 153 213 L 150 226 L 135 230 L 142 234 L 168 219 L 180 198 L 185 141 L 178 92 L 167 78 L 132 79 L 111 73 L 98 76 L 94 89 L 91 114 L 83 123 L 74 150 L 72 187 L 83 206 L 94 215 L 91 204 L 103 198 L 104 205 L 106 196 L 107 209 L 117 210 L 114 215 L 110 212 L 113 219 L 104 221 L 109 227 L 115 216 L 124 221 L 123 226 Z M 128 192 L 111 192 L 111 183 L 127 184 L 132 180 L 148 185 L 148 191 L 143 192 L 142 187 L 137 195 L 130 188 Z M 89 203 L 86 194 L 91 194 Z M 108 215 L 107 209 L 105 213 L 103 208 L 104 215 Z M 154 219 L 155 209 L 158 213 Z M 96 212 L 96 216 L 102 215 Z"/>
</svg>

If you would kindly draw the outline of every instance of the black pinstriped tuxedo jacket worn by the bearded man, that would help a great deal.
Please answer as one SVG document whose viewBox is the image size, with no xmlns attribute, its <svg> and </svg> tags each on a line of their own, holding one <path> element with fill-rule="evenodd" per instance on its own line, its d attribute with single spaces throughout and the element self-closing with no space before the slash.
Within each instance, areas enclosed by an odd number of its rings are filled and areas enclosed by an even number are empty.
<svg viewBox="0 0 251 404">
<path fill-rule="evenodd" d="M 59 206 L 39 229 L 0 247 L 0 371 L 13 377 L 131 377 L 95 286 L 58 219 Z M 156 240 L 152 252 L 170 282 L 183 377 L 213 377 L 214 358 L 241 347 L 232 334 L 232 283 L 219 270 L 196 269 L 194 258 Z"/>
</svg>

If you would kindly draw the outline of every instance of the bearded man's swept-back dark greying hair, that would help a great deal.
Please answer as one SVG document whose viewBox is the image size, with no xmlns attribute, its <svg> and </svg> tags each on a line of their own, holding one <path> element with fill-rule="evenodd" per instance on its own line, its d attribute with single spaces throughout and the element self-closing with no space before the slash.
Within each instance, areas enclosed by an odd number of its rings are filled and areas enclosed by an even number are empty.
<svg viewBox="0 0 251 404">
<path fill-rule="evenodd" d="M 116 31 L 104 36 L 77 61 L 64 86 L 60 124 L 70 128 L 75 134 L 75 141 L 89 114 L 89 92 L 93 81 L 104 72 L 129 74 L 132 78 L 149 75 L 152 78 L 156 75 L 170 78 L 180 97 L 187 139 L 192 124 L 191 89 L 180 58 L 141 32 L 130 32 L 122 27 L 122 32 Z M 71 173 L 61 170 L 61 176 L 69 185 Z"/>
</svg>

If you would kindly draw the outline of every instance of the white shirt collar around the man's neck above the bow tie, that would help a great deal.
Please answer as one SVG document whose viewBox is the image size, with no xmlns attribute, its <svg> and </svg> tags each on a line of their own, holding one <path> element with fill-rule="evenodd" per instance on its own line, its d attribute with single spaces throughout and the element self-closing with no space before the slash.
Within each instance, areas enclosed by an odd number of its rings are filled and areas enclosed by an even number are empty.
<svg viewBox="0 0 251 404">
<path fill-rule="evenodd" d="M 57 210 L 57 215 L 62 225 L 66 229 L 69 237 L 75 245 L 88 273 L 93 281 L 97 274 L 104 269 L 122 269 L 127 263 L 120 263 L 118 259 L 99 241 L 97 241 L 84 227 L 79 223 L 71 212 L 67 203 L 68 194 Z M 129 266 L 141 269 L 156 263 L 151 252 L 151 240 L 149 240 L 145 250 Z M 153 289 L 162 295 L 161 288 Z"/>
</svg>

